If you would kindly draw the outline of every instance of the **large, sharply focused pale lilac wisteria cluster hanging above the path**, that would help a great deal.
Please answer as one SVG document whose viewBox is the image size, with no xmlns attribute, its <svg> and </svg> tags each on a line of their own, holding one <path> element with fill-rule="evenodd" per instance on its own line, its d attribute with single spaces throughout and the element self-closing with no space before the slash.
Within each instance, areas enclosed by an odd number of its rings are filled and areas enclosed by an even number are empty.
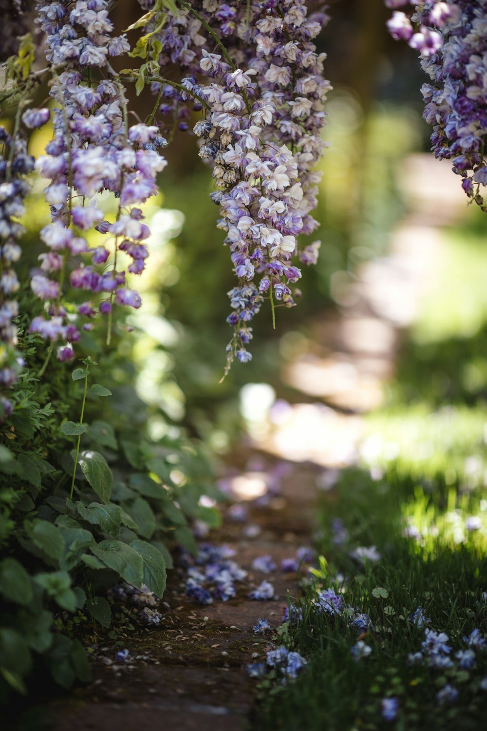
<svg viewBox="0 0 487 731">
<path fill-rule="evenodd" d="M 273 314 L 275 300 L 294 306 L 300 292 L 291 285 L 302 276 L 295 262 L 314 264 L 318 257 L 318 241 L 300 248 L 297 237 L 318 225 L 311 211 L 320 175 L 313 166 L 326 146 L 323 102 L 331 86 L 323 78 L 325 54 L 316 53 L 312 40 L 328 17 L 308 17 L 303 0 L 179 4 L 180 16 L 158 33 L 158 62 L 162 69 L 181 67 L 185 77 L 180 84 L 154 83 L 153 91 L 163 99 L 161 113 L 177 115 L 180 129 L 188 129 L 190 107 L 203 112 L 193 132 L 199 156 L 212 165 L 218 227 L 239 279 L 229 292 L 228 363 L 234 357 L 245 363 L 249 323 L 264 298 Z M 215 41 L 218 53 L 210 53 Z"/>
</svg>

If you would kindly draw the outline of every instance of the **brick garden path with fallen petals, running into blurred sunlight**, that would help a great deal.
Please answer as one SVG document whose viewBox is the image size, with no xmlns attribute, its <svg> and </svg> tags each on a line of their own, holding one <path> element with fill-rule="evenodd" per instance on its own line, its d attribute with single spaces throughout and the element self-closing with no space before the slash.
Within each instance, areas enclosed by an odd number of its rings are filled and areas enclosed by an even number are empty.
<svg viewBox="0 0 487 731">
<path fill-rule="evenodd" d="M 409 213 L 390 251 L 343 285 L 337 312 L 315 319 L 306 355 L 283 372 L 283 382 L 295 389 L 294 404 L 277 401 L 259 412 L 231 463 L 226 486 L 234 500 L 246 502 L 248 519 L 232 520 L 227 511 L 211 540 L 233 548 L 249 572 L 237 596 L 195 605 L 184 595 L 185 570 L 175 569 L 161 628 L 123 640 L 134 660 L 113 662 L 116 648 L 99 648 L 93 683 L 50 702 L 37 721 L 49 716 L 55 731 L 252 727 L 255 681 L 242 668 L 261 654 L 253 625 L 265 617 L 277 627 L 286 591 L 297 593 L 296 575 L 265 576 L 253 571 L 252 561 L 267 554 L 280 565 L 310 544 L 317 489 L 329 488 L 336 470 L 356 460 L 363 414 L 383 398 L 402 330 L 413 322 L 441 255 L 440 227 L 465 208 L 456 178 L 429 156 L 408 159 L 403 178 Z M 278 599 L 249 600 L 249 587 L 264 578 Z"/>
</svg>

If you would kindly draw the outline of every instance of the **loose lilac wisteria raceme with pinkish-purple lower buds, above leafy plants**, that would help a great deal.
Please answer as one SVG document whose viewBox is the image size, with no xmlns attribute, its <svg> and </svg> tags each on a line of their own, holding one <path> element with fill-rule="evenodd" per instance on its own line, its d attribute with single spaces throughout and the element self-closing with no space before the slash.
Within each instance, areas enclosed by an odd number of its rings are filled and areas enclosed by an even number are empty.
<svg viewBox="0 0 487 731">
<path fill-rule="evenodd" d="M 99 313 L 107 315 L 110 341 L 112 308 L 140 306 L 128 282 L 129 274 L 142 273 L 148 255 L 143 242 L 150 230 L 139 205 L 156 194 L 156 175 L 166 166 L 158 154 L 166 144 L 158 127 L 128 126 L 126 90 L 110 58 L 130 47 L 124 35 L 112 35 L 108 7 L 107 0 L 37 5 L 47 34 L 46 58 L 57 69 L 50 91 L 57 106 L 54 138 L 37 160 L 39 173 L 50 181 L 45 198 L 52 222 L 41 231 L 47 252 L 40 255 L 31 279 L 45 312 L 34 318 L 31 331 L 53 342 L 68 341 L 58 350 L 59 360 L 73 355 L 80 316 L 89 321 Z M 93 77 L 98 78 L 94 83 Z M 105 220 L 100 208 L 99 194 L 104 191 L 118 199 L 114 221 Z M 86 240 L 93 229 L 104 236 L 95 249 Z M 129 257 L 128 266 L 120 251 Z M 87 295 L 73 319 L 66 317 L 62 305 L 67 281 Z M 83 327 L 88 330 L 92 324 L 85 322 Z"/>
</svg>

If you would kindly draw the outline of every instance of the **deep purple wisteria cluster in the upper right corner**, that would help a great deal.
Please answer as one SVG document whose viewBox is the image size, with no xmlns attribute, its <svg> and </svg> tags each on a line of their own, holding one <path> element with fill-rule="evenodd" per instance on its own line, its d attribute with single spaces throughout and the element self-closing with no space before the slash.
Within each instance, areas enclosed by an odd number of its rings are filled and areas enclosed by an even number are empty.
<svg viewBox="0 0 487 731">
<path fill-rule="evenodd" d="M 391 8 L 406 1 L 386 0 Z M 421 53 L 431 83 L 421 87 L 423 118 L 432 124 L 432 151 L 451 159 L 461 186 L 483 211 L 480 186 L 487 184 L 483 155 L 487 133 L 487 2 L 447 0 L 415 4 L 411 17 L 395 10 L 388 29 Z M 413 24 L 415 28 L 413 28 Z"/>
</svg>

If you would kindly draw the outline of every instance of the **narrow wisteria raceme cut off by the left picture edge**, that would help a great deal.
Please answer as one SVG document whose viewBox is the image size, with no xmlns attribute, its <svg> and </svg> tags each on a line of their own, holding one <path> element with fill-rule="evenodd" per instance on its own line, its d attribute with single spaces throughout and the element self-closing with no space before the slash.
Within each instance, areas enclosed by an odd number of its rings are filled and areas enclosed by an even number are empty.
<svg viewBox="0 0 487 731">
<path fill-rule="evenodd" d="M 18 240 L 23 227 L 16 220 L 23 216 L 23 198 L 29 186 L 24 175 L 34 168 L 34 158 L 27 154 L 25 140 L 13 137 L 0 127 L 0 422 L 12 412 L 7 398 L 9 387 L 17 380 L 23 360 L 16 350 L 19 314 L 15 299 L 20 284 L 15 273 L 22 250 Z"/>
</svg>

